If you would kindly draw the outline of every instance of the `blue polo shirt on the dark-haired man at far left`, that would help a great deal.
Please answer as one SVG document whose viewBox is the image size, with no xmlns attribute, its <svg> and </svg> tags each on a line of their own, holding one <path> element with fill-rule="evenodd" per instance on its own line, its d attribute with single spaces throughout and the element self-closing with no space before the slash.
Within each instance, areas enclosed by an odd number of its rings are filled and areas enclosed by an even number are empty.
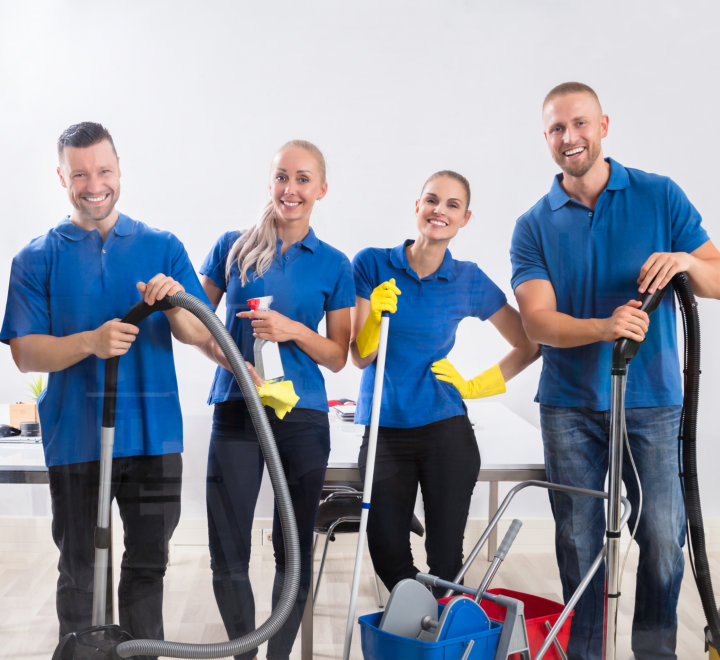
<svg viewBox="0 0 720 660">
<path fill-rule="evenodd" d="M 135 287 L 157 273 L 207 302 L 182 243 L 120 214 L 103 243 L 66 218 L 13 259 L 0 340 L 65 337 L 122 318 L 141 300 Z M 105 361 L 95 356 L 51 373 L 38 399 L 48 466 L 100 458 Z M 170 324 L 151 314 L 118 365 L 115 456 L 182 451 L 182 418 Z"/>
</svg>

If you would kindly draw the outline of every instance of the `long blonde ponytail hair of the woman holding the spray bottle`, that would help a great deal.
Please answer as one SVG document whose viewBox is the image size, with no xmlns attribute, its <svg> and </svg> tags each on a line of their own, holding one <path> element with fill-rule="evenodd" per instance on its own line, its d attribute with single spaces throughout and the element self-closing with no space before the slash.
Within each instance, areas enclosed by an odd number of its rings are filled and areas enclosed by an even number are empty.
<svg viewBox="0 0 720 660">
<path fill-rule="evenodd" d="M 290 140 L 280 147 L 277 154 L 289 149 L 298 147 L 310 153 L 317 161 L 319 174 L 325 183 L 325 157 L 312 142 L 307 140 Z M 255 278 L 262 277 L 270 268 L 275 258 L 277 245 L 277 219 L 275 218 L 275 206 L 273 200 L 269 199 L 263 208 L 260 219 L 247 231 L 243 232 L 233 243 L 225 264 L 225 281 L 230 281 L 230 270 L 233 263 L 237 263 L 240 271 L 240 281 L 243 286 L 248 283 L 248 270 L 255 269 Z"/>
</svg>

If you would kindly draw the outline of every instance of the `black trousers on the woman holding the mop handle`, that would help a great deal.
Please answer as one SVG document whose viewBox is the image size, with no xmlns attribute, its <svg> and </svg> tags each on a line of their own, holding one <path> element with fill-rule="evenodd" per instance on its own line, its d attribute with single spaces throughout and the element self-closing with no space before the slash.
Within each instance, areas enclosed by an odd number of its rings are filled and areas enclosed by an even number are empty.
<svg viewBox="0 0 720 660">
<path fill-rule="evenodd" d="M 363 479 L 369 433 L 366 427 L 358 457 Z M 455 577 L 479 470 L 480 452 L 467 415 L 409 429 L 378 429 L 367 537 L 375 571 L 390 591 L 419 572 L 410 548 L 418 485 L 428 570 L 445 580 Z"/>
</svg>

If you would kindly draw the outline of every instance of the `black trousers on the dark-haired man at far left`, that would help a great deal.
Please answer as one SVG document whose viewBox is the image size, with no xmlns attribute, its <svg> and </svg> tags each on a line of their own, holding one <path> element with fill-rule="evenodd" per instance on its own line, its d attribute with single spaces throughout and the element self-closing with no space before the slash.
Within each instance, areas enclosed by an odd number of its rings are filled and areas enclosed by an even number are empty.
<svg viewBox="0 0 720 660">
<path fill-rule="evenodd" d="M 98 461 L 92 461 L 48 471 L 52 534 L 60 550 L 56 595 L 60 637 L 92 622 L 99 467 Z M 181 482 L 180 454 L 113 460 L 111 498 L 120 510 L 125 541 L 119 623 L 136 639 L 163 639 L 163 578 L 168 543 L 180 519 Z M 112 621 L 111 612 L 106 621 Z"/>
</svg>

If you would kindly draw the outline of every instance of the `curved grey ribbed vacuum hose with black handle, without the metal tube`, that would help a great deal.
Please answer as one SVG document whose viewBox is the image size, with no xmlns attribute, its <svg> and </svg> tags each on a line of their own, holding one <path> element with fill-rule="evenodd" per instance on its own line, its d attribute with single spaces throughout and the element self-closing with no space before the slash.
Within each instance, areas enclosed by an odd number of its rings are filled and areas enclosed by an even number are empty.
<svg viewBox="0 0 720 660">
<path fill-rule="evenodd" d="M 167 302 L 166 302 L 167 301 Z M 183 644 L 162 640 L 135 639 L 122 642 L 115 648 L 117 657 L 130 658 L 136 655 L 164 656 L 171 658 L 227 658 L 250 651 L 272 637 L 285 623 L 297 599 L 300 585 L 300 545 L 298 541 L 295 514 L 290 500 L 290 491 L 280 461 L 280 455 L 273 438 L 265 409 L 235 341 L 225 326 L 202 301 L 189 293 L 181 292 L 168 296 L 149 306 L 144 302 L 135 305 L 123 318 L 125 323 L 138 324 L 155 311 L 171 307 L 182 307 L 194 314 L 208 328 L 232 367 L 250 413 L 260 447 L 268 466 L 277 502 L 283 539 L 285 541 L 285 582 L 277 606 L 265 623 L 257 630 L 235 640 L 217 644 Z M 103 403 L 103 426 L 115 425 L 115 398 L 117 388 L 118 358 L 108 360 L 105 371 L 105 398 Z"/>
</svg>

